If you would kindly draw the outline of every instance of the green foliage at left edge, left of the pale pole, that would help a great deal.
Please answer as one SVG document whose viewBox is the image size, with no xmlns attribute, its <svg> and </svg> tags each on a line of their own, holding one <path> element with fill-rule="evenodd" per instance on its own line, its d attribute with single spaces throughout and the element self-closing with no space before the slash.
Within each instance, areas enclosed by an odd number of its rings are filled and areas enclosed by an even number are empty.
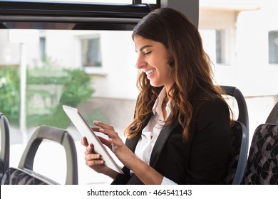
<svg viewBox="0 0 278 199">
<path fill-rule="evenodd" d="M 19 124 L 20 79 L 16 66 L 0 68 L 0 112 L 11 124 Z"/>
</svg>

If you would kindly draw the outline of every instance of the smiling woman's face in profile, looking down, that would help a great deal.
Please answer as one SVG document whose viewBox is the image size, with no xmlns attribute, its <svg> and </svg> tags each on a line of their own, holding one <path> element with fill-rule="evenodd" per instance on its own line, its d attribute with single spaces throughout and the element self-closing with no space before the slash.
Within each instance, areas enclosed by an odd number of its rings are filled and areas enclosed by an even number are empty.
<svg viewBox="0 0 278 199">
<path fill-rule="evenodd" d="M 169 53 L 163 43 L 134 36 L 135 51 L 138 53 L 136 68 L 142 70 L 153 87 L 165 86 L 168 90 L 173 85 L 170 72 Z"/>
</svg>

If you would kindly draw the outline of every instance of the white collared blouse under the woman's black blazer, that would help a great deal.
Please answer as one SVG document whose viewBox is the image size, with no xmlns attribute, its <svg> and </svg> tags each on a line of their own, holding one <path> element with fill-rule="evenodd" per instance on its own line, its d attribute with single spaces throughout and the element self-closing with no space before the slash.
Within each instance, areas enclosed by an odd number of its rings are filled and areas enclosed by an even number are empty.
<svg viewBox="0 0 278 199">
<path fill-rule="evenodd" d="M 165 124 L 163 119 L 163 110 L 161 108 L 165 95 L 165 88 L 163 88 L 153 106 L 153 117 L 150 118 L 147 126 L 143 129 L 142 135 L 135 149 L 135 155 L 145 163 L 148 163 L 148 165 L 150 165 L 150 155 L 152 154 L 153 146 L 155 146 L 155 142 L 158 139 L 160 131 L 163 129 Z M 171 113 L 170 101 L 166 104 L 166 113 L 167 117 L 169 117 Z M 161 184 L 173 185 L 176 183 L 164 177 Z"/>
</svg>

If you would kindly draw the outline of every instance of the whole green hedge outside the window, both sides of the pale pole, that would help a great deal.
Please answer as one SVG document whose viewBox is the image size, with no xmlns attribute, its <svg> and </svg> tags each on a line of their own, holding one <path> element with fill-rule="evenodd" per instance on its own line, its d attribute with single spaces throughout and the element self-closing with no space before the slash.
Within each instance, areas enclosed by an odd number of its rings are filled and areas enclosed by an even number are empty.
<svg viewBox="0 0 278 199">
<path fill-rule="evenodd" d="M 46 63 L 43 68 L 32 68 L 26 73 L 27 127 L 44 124 L 66 129 L 71 121 L 63 112 L 62 105 L 77 107 L 90 100 L 95 92 L 90 75 L 81 69 L 53 68 Z M 9 118 L 10 124 L 19 125 L 20 75 L 16 66 L 0 68 L 0 112 Z M 85 118 L 88 122 L 107 122 L 100 109 Z"/>
</svg>

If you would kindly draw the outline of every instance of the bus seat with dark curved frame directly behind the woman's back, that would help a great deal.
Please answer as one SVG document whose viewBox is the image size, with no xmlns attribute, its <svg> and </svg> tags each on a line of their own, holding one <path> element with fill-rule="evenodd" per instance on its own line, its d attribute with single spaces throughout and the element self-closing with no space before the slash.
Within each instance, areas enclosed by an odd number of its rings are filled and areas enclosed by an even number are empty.
<svg viewBox="0 0 278 199">
<path fill-rule="evenodd" d="M 244 175 L 248 155 L 249 117 L 247 104 L 242 92 L 237 87 L 221 87 L 227 95 L 235 97 L 239 111 L 239 116 L 235 119 L 235 124 L 232 127 L 232 151 L 227 161 L 223 183 L 239 185 Z"/>
</svg>

